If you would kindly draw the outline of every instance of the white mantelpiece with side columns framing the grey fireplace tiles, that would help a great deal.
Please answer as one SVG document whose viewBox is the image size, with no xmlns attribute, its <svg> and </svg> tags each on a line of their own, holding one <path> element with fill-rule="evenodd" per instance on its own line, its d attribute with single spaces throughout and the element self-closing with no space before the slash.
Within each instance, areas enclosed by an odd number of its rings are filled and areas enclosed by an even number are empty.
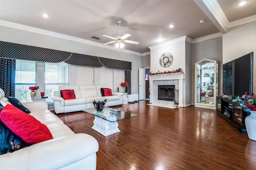
<svg viewBox="0 0 256 170">
<path fill-rule="evenodd" d="M 169 74 L 158 74 L 150 75 L 150 103 L 157 103 L 155 95 L 158 95 L 157 89 L 154 85 L 170 85 L 169 80 L 178 87 L 178 107 L 185 107 L 185 73 L 169 73 Z M 169 103 L 166 103 L 167 105 Z"/>
</svg>

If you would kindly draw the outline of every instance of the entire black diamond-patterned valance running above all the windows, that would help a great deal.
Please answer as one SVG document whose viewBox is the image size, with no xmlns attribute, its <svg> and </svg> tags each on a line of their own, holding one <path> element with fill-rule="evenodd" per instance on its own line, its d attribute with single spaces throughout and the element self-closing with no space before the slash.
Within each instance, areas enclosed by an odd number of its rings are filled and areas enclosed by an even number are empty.
<svg viewBox="0 0 256 170">
<path fill-rule="evenodd" d="M 92 55 L 78 54 L 56 49 L 35 47 L 0 41 L 0 58 L 22 59 L 48 63 L 66 62 L 86 67 L 106 67 L 109 69 L 132 70 L 132 63 Z"/>
</svg>

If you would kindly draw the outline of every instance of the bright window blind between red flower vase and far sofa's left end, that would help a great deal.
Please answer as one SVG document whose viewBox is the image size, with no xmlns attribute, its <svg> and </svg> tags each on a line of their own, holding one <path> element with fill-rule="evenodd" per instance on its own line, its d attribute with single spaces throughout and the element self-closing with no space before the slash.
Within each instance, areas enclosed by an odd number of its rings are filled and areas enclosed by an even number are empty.
<svg viewBox="0 0 256 170">
<path fill-rule="evenodd" d="M 69 85 L 69 65 L 67 63 L 45 63 L 45 93 L 46 102 L 52 102 L 54 91 L 58 91 L 60 85 Z"/>
</svg>

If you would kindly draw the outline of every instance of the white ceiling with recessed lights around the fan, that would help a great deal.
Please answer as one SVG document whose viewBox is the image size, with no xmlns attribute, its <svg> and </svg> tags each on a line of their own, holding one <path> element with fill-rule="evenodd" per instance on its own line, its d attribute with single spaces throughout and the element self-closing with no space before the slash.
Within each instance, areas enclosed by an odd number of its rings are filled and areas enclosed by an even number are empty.
<svg viewBox="0 0 256 170">
<path fill-rule="evenodd" d="M 32 26 L 98 43 L 121 36 L 140 42 L 125 49 L 145 53 L 148 47 L 182 36 L 192 39 L 218 32 L 246 17 L 256 20 L 256 0 L 0 0 L 0 20 Z M 212 9 L 213 8 L 213 9 Z M 50 18 L 42 18 L 47 13 Z M 205 20 L 200 24 L 200 20 Z M 168 28 L 174 24 L 173 29 Z M 1 25 L 1 21 L 0 21 Z M 96 40 L 92 36 L 100 38 Z M 162 39 L 162 41 L 158 41 Z M 111 43 L 109 45 L 114 45 Z"/>
</svg>

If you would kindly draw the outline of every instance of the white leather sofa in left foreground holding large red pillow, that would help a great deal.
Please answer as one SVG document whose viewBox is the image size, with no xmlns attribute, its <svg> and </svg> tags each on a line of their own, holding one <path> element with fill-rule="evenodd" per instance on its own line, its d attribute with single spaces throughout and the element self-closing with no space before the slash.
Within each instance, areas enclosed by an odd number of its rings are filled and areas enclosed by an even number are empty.
<svg viewBox="0 0 256 170">
<path fill-rule="evenodd" d="M 0 89 L 0 100 L 10 104 Z M 1 170 L 96 170 L 97 140 L 75 134 L 48 110 L 46 102 L 22 103 L 30 115 L 46 125 L 53 139 L 0 155 Z"/>
</svg>

